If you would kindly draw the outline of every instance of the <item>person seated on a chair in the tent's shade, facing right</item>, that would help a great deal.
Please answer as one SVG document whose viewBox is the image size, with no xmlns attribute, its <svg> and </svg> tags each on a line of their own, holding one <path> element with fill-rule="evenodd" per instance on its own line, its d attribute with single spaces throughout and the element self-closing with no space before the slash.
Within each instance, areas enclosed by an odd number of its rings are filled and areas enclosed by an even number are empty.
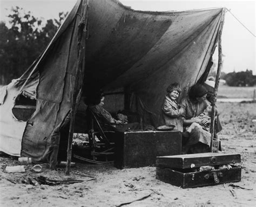
<svg viewBox="0 0 256 207">
<path fill-rule="evenodd" d="M 114 119 L 104 106 L 105 96 L 102 92 L 95 93 L 87 97 L 87 109 L 93 112 L 103 130 L 113 130 L 114 132 L 125 132 L 126 130 L 139 129 L 139 123 L 125 123 Z"/>
</svg>

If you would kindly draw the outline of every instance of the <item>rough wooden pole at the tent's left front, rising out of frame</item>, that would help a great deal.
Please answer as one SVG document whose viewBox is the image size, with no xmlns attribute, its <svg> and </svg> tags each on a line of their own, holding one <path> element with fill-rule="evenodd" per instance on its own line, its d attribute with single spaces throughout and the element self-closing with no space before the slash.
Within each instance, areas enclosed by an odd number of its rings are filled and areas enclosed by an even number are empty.
<svg viewBox="0 0 256 207">
<path fill-rule="evenodd" d="M 78 62 L 77 62 L 76 75 L 75 75 L 75 86 L 73 89 L 72 106 L 71 106 L 71 112 L 70 112 L 69 140 L 68 140 L 66 171 L 65 171 L 66 175 L 70 175 L 73 129 L 75 126 L 75 116 L 77 112 L 77 106 L 80 100 L 80 95 L 82 93 L 81 81 L 83 81 L 84 65 L 85 65 L 84 62 L 85 62 L 86 26 L 87 26 L 87 19 L 88 19 L 87 10 L 88 10 L 88 2 L 86 5 L 83 3 L 83 14 L 80 19 L 80 23 L 78 25 L 79 31 L 80 31 L 78 32 L 79 52 L 78 52 Z"/>
</svg>

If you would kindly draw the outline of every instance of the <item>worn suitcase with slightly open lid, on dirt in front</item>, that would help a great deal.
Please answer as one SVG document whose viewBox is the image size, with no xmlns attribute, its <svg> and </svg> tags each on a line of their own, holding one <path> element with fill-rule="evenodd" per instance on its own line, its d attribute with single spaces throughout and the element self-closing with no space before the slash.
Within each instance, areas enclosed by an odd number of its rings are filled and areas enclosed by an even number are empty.
<svg viewBox="0 0 256 207">
<path fill-rule="evenodd" d="M 239 162 L 240 154 L 200 153 L 161 156 L 156 160 L 156 178 L 181 188 L 239 182 Z M 212 167 L 214 169 L 211 169 Z"/>
</svg>

